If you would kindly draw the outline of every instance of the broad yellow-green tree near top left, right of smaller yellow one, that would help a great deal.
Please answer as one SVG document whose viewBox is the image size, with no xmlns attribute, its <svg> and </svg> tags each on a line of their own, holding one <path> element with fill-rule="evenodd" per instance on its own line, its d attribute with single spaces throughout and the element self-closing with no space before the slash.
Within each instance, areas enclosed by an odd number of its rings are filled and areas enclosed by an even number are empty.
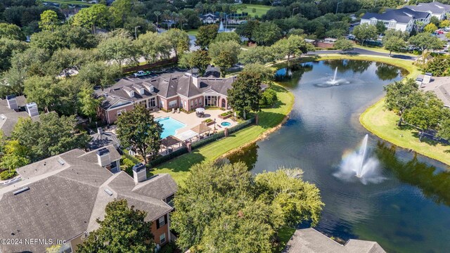
<svg viewBox="0 0 450 253">
<path fill-rule="evenodd" d="M 73 16 L 72 25 L 87 27 L 96 33 L 96 27 L 104 27 L 108 21 L 108 7 L 94 4 L 89 8 L 82 8 Z"/>
</svg>

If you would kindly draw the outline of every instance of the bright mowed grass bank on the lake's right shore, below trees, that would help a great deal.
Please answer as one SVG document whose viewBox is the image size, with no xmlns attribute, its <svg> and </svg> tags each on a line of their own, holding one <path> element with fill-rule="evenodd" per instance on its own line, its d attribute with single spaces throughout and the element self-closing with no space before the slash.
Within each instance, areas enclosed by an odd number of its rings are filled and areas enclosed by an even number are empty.
<svg viewBox="0 0 450 253">
<path fill-rule="evenodd" d="M 382 99 L 368 108 L 359 117 L 359 122 L 372 134 L 389 141 L 401 148 L 412 149 L 421 155 L 450 164 L 450 146 L 428 138 L 419 141 L 419 131 L 403 124 L 397 126 L 399 116 L 384 107 Z"/>
</svg>

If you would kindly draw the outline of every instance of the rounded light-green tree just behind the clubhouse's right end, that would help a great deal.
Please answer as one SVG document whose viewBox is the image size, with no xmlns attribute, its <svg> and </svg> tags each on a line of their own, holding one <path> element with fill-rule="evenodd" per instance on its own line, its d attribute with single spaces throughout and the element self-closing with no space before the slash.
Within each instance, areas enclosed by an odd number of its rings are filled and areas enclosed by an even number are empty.
<svg viewBox="0 0 450 253">
<path fill-rule="evenodd" d="M 210 57 L 212 62 L 220 67 L 222 77 L 225 77 L 226 70 L 238 63 L 240 46 L 236 41 L 219 41 L 210 44 Z"/>
</svg>

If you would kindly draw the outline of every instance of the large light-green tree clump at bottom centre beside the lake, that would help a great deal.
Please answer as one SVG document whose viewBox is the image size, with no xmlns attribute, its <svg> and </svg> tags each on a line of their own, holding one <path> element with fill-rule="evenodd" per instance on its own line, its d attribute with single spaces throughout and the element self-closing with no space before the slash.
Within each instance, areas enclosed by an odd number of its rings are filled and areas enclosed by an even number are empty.
<svg viewBox="0 0 450 253">
<path fill-rule="evenodd" d="M 241 162 L 194 165 L 174 199 L 176 244 L 192 252 L 272 252 L 278 228 L 315 225 L 323 206 L 316 186 L 293 174 L 252 176 Z"/>
</svg>

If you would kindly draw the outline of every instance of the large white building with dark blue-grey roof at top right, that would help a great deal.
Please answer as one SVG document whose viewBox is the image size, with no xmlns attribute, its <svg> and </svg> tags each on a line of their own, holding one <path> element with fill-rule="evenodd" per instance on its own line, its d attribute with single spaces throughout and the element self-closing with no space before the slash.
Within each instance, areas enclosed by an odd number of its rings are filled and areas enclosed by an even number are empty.
<svg viewBox="0 0 450 253">
<path fill-rule="evenodd" d="M 361 18 L 361 24 L 376 25 L 381 21 L 387 29 L 411 32 L 419 22 L 430 23 L 431 14 L 423 11 L 413 11 L 409 8 L 390 9 L 384 13 L 366 13 Z"/>
</svg>

